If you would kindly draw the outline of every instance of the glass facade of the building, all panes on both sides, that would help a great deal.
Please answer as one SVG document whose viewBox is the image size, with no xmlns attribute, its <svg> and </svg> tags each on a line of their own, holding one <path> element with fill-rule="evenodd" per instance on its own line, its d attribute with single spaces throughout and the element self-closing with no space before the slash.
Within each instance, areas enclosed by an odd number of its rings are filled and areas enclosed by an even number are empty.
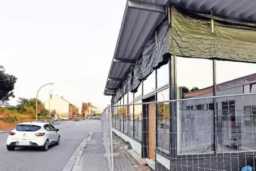
<svg viewBox="0 0 256 171">
<path fill-rule="evenodd" d="M 137 92 L 129 92 L 128 97 L 124 95 L 124 104 L 130 105 L 118 107 L 114 125 L 142 141 L 142 114 L 147 117 L 149 114 L 146 108 L 143 111 L 142 105 L 136 104 L 142 103 L 142 89 L 143 100 L 153 99 L 155 93 L 152 97 L 146 95 L 155 90 L 157 81 L 156 152 L 169 156 L 171 137 L 175 138 L 177 155 L 256 150 L 256 134 L 253 133 L 256 95 L 242 95 L 256 92 L 256 67 L 248 63 L 216 61 L 217 97 L 214 98 L 213 66 L 209 59 L 176 57 L 176 98 L 182 100 L 172 104 L 177 110 L 174 133 L 170 133 L 173 122 L 169 102 L 159 102 L 169 100 L 170 90 L 163 88 L 169 83 L 168 64 L 157 69 L 157 77 L 155 72 L 151 73 Z M 238 66 L 243 70 L 237 70 Z M 118 104 L 123 104 L 123 98 Z"/>
</svg>

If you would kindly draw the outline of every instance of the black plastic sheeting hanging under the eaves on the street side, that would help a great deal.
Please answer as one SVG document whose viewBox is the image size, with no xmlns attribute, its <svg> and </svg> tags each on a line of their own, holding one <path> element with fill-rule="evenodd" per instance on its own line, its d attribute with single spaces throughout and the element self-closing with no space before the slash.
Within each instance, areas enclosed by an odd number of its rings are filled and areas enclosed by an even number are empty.
<svg viewBox="0 0 256 171">
<path fill-rule="evenodd" d="M 164 60 L 164 54 L 168 53 L 168 28 L 168 21 L 160 24 L 157 29 L 157 45 L 155 33 L 149 38 L 134 69 L 123 81 L 121 89 L 118 89 L 113 96 L 112 104 L 115 104 L 127 92 L 136 92 L 143 79 L 146 79 L 157 67 L 168 62 Z"/>
</svg>

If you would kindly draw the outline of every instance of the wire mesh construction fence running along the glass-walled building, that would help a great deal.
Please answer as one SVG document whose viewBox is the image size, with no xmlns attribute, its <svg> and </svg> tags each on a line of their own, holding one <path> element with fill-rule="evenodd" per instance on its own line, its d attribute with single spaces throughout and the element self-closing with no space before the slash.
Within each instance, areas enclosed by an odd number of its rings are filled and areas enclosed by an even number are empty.
<svg viewBox="0 0 256 171">
<path fill-rule="evenodd" d="M 108 111 L 112 128 L 104 132 L 104 143 L 110 143 L 112 170 L 256 168 L 256 93 L 116 105 Z"/>
</svg>

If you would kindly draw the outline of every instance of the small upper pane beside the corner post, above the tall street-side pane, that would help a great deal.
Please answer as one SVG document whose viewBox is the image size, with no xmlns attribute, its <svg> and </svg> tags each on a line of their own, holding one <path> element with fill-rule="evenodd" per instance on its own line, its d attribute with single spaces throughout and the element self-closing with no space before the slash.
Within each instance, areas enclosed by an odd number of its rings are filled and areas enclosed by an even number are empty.
<svg viewBox="0 0 256 171">
<path fill-rule="evenodd" d="M 163 65 L 157 69 L 157 88 L 169 83 L 169 65 Z"/>
</svg>

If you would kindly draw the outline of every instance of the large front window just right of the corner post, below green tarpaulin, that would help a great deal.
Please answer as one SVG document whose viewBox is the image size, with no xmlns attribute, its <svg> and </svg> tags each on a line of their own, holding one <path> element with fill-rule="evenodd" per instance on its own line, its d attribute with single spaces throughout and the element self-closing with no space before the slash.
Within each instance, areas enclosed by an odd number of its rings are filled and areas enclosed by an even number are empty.
<svg viewBox="0 0 256 171">
<path fill-rule="evenodd" d="M 212 60 L 176 58 L 177 149 L 178 154 L 211 153 L 214 149 L 214 99 L 193 99 L 213 95 Z"/>
</svg>

